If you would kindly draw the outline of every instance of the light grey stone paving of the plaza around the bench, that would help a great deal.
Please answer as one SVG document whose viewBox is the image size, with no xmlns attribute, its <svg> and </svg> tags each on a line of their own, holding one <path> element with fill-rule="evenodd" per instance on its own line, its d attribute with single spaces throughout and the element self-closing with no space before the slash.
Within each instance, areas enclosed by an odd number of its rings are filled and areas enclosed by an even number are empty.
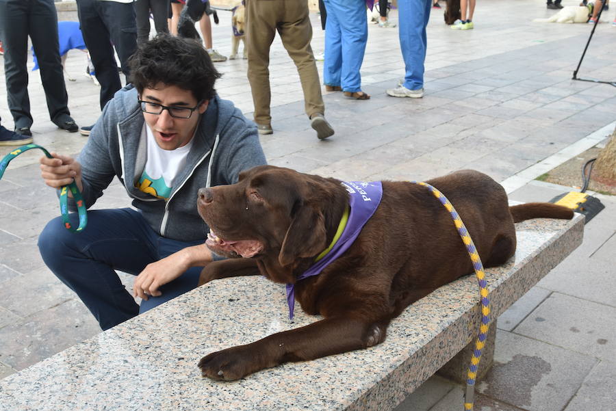
<svg viewBox="0 0 616 411">
<path fill-rule="evenodd" d="M 565 0 L 565 5 L 576 2 Z M 590 27 L 532 23 L 551 15 L 540 0 L 478 3 L 476 29 L 452 31 L 433 10 L 428 26 L 426 96 L 385 95 L 403 75 L 397 29 L 371 25 L 361 70 L 369 101 L 326 93 L 326 116 L 336 134 L 318 141 L 303 114 L 296 69 L 279 40 L 270 64 L 274 134 L 261 139 L 268 161 L 302 172 L 343 179 L 421 180 L 461 168 L 497 181 L 558 153 L 616 120 L 616 88 L 572 81 Z M 613 10 L 604 16 L 611 21 Z M 64 12 L 62 18 L 75 19 Z M 214 27 L 218 51 L 229 54 L 229 13 Z M 392 13 L 396 20 L 396 13 Z M 313 16 L 313 49 L 323 32 Z M 616 80 L 616 28 L 599 25 L 579 77 Z M 0 65 L 1 66 L 1 65 Z M 99 89 L 82 73 L 86 57 L 71 51 L 66 70 L 69 106 L 79 124 L 99 116 Z M 322 63 L 318 66 L 322 69 Z M 217 64 L 218 92 L 248 116 L 253 110 L 246 61 Z M 0 68 L 1 70 L 1 68 Z M 77 153 L 86 141 L 49 121 L 37 72 L 29 92 L 35 142 L 59 153 Z M 0 81 L 0 102 L 6 101 Z M 5 127 L 12 127 L 0 104 Z M 9 152 L 0 148 L 0 155 Z M 0 181 L 0 377 L 28 367 L 99 329 L 83 304 L 44 267 L 36 238 L 57 215 L 57 199 L 38 176 L 39 152 L 12 161 Z M 566 187 L 532 182 L 515 200 L 549 200 Z M 586 228 L 585 242 L 498 321 L 496 364 L 476 409 L 613 410 L 616 403 L 616 200 Z M 96 207 L 129 204 L 113 183 Z M 127 284 L 131 278 L 125 277 Z M 398 410 L 451 410 L 462 388 L 433 377 Z"/>
</svg>

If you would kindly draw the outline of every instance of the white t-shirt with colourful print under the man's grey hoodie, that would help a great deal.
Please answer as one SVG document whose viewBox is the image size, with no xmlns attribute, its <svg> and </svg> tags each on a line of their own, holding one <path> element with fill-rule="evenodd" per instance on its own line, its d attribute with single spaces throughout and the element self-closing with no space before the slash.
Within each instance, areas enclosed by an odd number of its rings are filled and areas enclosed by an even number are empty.
<svg viewBox="0 0 616 411">
<path fill-rule="evenodd" d="M 142 138 L 144 133 L 146 135 L 148 157 L 137 188 L 151 196 L 167 200 L 176 183 L 177 175 L 186 165 L 186 157 L 194 139 L 175 150 L 163 150 L 156 144 L 154 135 L 146 123 L 143 124 L 141 133 Z"/>
</svg>

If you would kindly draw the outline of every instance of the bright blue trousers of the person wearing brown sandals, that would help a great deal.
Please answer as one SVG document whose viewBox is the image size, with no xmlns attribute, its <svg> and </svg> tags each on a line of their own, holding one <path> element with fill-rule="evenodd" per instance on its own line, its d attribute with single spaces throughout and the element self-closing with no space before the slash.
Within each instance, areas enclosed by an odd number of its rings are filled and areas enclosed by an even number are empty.
<svg viewBox="0 0 616 411">
<path fill-rule="evenodd" d="M 368 40 L 368 18 L 364 0 L 323 0 L 325 23 L 326 85 L 339 85 L 345 92 L 361 91 L 359 69 Z"/>
</svg>

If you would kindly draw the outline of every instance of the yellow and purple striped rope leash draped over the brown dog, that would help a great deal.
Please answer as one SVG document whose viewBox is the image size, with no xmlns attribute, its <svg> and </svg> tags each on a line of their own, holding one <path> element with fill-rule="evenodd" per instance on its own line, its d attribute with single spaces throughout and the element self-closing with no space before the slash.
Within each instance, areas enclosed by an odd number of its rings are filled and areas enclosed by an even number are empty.
<svg viewBox="0 0 616 411">
<path fill-rule="evenodd" d="M 471 364 L 468 367 L 468 376 L 466 380 L 466 392 L 464 395 L 464 410 L 472 411 L 473 403 L 474 403 L 474 395 L 475 395 L 475 379 L 477 377 L 477 368 L 479 367 L 479 360 L 481 358 L 481 350 L 485 345 L 485 339 L 487 338 L 487 332 L 490 323 L 490 300 L 488 300 L 488 291 L 487 291 L 487 283 L 485 282 L 485 271 L 483 271 L 483 264 L 481 263 L 481 258 L 479 257 L 479 253 L 475 248 L 475 244 L 466 229 L 466 226 L 462 222 L 460 215 L 457 213 L 456 209 L 454 209 L 453 205 L 447 200 L 441 191 L 435 189 L 435 187 L 429 185 L 428 183 L 411 181 L 411 183 L 423 185 L 424 187 L 428 187 L 432 194 L 436 198 L 439 199 L 441 204 L 445 206 L 447 211 L 449 211 L 452 220 L 458 230 L 458 234 L 462 238 L 464 245 L 466 246 L 466 250 L 468 255 L 471 258 L 473 263 L 473 269 L 475 270 L 475 274 L 477 276 L 477 280 L 479 283 L 479 293 L 481 295 L 481 326 L 479 327 L 479 334 L 477 336 L 477 340 L 475 341 L 475 350 L 473 352 L 473 356 L 471 358 Z"/>
</svg>

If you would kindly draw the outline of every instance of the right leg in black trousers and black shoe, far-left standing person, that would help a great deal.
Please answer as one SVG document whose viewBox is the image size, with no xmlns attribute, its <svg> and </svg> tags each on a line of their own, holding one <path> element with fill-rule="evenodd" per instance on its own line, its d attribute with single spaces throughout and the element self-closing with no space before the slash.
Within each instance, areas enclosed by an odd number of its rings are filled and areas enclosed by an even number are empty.
<svg viewBox="0 0 616 411">
<path fill-rule="evenodd" d="M 61 129 L 75 133 L 79 127 L 68 111 L 57 34 L 57 12 L 53 0 L 30 0 L 28 25 L 34 53 L 40 66 L 40 79 L 47 98 L 49 118 Z"/>
</svg>

